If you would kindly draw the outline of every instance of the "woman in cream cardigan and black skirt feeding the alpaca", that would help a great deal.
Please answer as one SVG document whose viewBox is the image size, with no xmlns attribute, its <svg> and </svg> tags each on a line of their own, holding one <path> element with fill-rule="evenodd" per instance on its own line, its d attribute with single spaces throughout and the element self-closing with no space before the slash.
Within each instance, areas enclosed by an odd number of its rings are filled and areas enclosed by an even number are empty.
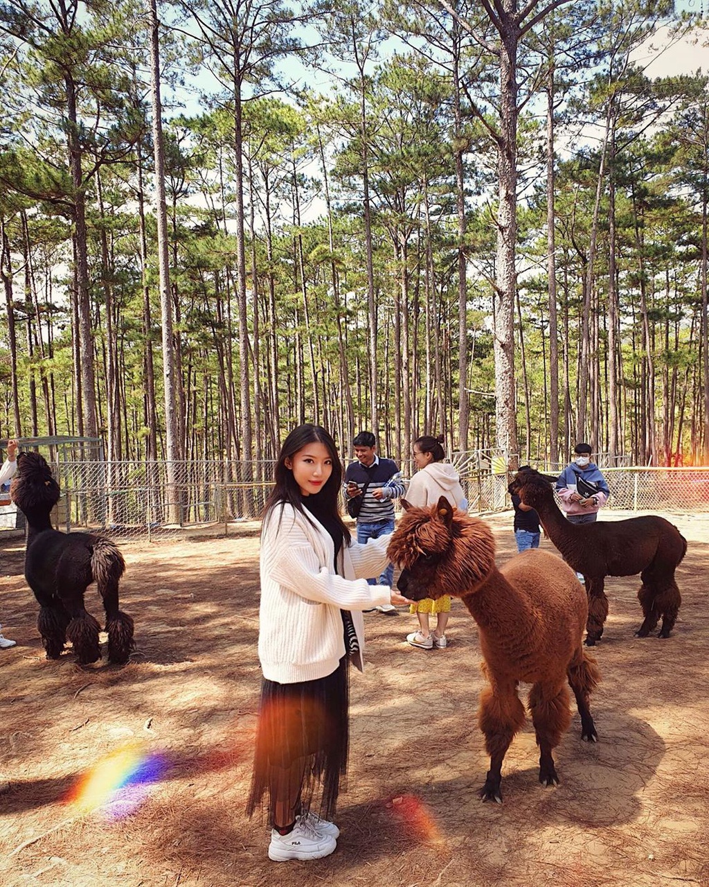
<svg viewBox="0 0 709 887">
<path fill-rule="evenodd" d="M 359 545 L 339 514 L 342 466 L 317 425 L 278 456 L 261 528 L 259 658 L 263 671 L 249 816 L 268 796 L 269 858 L 312 860 L 336 847 L 339 778 L 347 771 L 347 666 L 362 669 L 362 610 L 410 603 L 367 577 L 385 568 L 390 536 Z M 310 812 L 316 787 L 320 815 Z M 321 818 L 322 817 L 322 818 Z"/>
</svg>

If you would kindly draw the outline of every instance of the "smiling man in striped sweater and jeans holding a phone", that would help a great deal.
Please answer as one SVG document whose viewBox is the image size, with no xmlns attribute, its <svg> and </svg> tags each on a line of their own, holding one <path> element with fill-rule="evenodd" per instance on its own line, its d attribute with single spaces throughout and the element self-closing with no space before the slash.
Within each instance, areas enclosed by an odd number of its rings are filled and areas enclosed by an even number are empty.
<svg viewBox="0 0 709 887">
<path fill-rule="evenodd" d="M 393 499 L 403 496 L 405 487 L 401 472 L 392 459 L 379 459 L 377 438 L 371 431 L 361 431 L 354 441 L 355 462 L 347 466 L 343 493 L 345 502 L 362 496 L 362 506 L 357 515 L 357 542 L 377 539 L 386 533 L 393 533 Z M 366 489 L 365 489 L 366 487 Z M 382 575 L 368 580 L 370 585 L 393 583 L 393 564 L 390 563 Z M 398 616 L 392 604 L 376 607 L 387 616 Z"/>
</svg>

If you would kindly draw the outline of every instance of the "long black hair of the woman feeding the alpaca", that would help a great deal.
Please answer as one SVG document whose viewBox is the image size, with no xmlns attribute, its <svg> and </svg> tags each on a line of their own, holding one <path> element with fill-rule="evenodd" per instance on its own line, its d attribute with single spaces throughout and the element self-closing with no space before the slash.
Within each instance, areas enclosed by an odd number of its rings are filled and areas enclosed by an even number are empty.
<svg viewBox="0 0 709 887">
<path fill-rule="evenodd" d="M 347 530 L 342 516 L 339 513 L 339 488 L 342 485 L 342 463 L 339 460 L 339 453 L 335 442 L 332 440 L 329 431 L 326 431 L 322 425 L 311 425 L 306 422 L 305 425 L 299 425 L 293 428 L 292 432 L 285 438 L 281 451 L 278 453 L 278 460 L 275 471 L 275 485 L 263 509 L 263 519 L 280 505 L 283 513 L 283 506 L 286 502 L 293 506 L 300 514 L 304 514 L 308 521 L 310 520 L 307 512 L 303 508 L 303 500 L 300 494 L 300 487 L 293 477 L 292 470 L 285 466 L 286 459 L 292 459 L 293 456 L 308 446 L 308 443 L 323 443 L 330 453 L 332 459 L 332 473 L 325 483 L 323 489 L 316 493 L 318 504 L 322 508 L 324 514 L 328 514 L 332 520 L 337 521 L 342 528 L 342 535 L 345 538 L 345 544 L 349 545 L 350 532 Z"/>
</svg>

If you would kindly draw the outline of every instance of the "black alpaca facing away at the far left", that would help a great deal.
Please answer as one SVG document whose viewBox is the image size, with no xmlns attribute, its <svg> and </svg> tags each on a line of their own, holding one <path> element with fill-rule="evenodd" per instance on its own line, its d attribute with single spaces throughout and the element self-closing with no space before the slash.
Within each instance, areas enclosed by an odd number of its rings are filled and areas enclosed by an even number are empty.
<svg viewBox="0 0 709 887">
<path fill-rule="evenodd" d="M 50 514 L 60 493 L 51 468 L 35 452 L 20 453 L 17 462 L 10 495 L 27 518 L 25 578 L 40 605 L 37 628 L 47 658 L 58 659 L 67 638 L 82 665 L 101 658 L 100 626 L 83 600 L 95 582 L 104 601 L 108 661 L 128 662 L 135 644 L 133 620 L 118 608 L 118 583 L 126 569 L 123 555 L 104 536 L 53 530 Z"/>
</svg>

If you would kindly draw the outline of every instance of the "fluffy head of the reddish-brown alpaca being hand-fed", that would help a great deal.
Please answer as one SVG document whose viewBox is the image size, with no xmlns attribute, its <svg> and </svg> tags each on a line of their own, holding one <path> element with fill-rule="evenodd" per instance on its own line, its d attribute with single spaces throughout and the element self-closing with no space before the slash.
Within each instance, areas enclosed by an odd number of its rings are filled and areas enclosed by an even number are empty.
<svg viewBox="0 0 709 887">
<path fill-rule="evenodd" d="M 457 511 L 441 496 L 438 504 L 415 508 L 401 500 L 405 514 L 387 554 L 401 567 L 397 587 L 411 600 L 474 591 L 495 569 L 495 541 L 478 518 Z"/>
</svg>

